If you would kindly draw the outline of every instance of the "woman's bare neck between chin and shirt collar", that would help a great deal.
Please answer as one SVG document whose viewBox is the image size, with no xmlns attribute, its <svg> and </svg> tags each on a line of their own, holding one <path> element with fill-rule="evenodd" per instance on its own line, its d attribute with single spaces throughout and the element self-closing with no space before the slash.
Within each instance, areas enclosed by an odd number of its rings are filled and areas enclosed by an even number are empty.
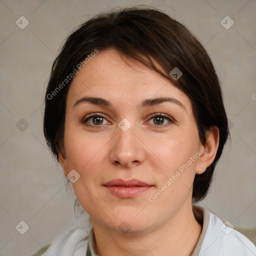
<svg viewBox="0 0 256 256">
<path fill-rule="evenodd" d="M 191 255 L 201 233 L 192 205 L 183 206 L 164 226 L 147 233 L 120 234 L 93 225 L 98 256 Z"/>
</svg>

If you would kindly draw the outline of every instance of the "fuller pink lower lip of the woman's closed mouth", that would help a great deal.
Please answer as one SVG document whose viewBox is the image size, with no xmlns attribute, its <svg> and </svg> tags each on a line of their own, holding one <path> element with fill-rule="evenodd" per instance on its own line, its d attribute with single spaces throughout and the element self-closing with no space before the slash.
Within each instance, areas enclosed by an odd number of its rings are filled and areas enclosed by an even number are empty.
<svg viewBox="0 0 256 256">
<path fill-rule="evenodd" d="M 151 186 L 105 186 L 113 195 L 120 198 L 131 198 L 144 191 Z"/>
</svg>

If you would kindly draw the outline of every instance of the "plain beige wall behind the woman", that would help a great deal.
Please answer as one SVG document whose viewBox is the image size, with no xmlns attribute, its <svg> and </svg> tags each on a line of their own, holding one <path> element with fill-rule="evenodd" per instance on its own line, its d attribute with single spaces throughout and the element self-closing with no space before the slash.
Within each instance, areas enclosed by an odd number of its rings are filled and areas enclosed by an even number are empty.
<svg viewBox="0 0 256 256">
<path fill-rule="evenodd" d="M 255 0 L 1 0 L 1 256 L 31 255 L 74 220 L 74 196 L 42 132 L 44 92 L 61 41 L 93 14 L 142 3 L 185 24 L 222 83 L 232 142 L 200 204 L 235 227 L 256 229 Z M 15 24 L 21 15 L 29 21 L 24 29 Z M 229 29 L 220 23 L 226 15 L 234 21 Z M 21 118 L 28 123 L 23 131 L 16 127 Z M 23 235 L 15 229 L 21 220 L 29 226 Z"/>
</svg>

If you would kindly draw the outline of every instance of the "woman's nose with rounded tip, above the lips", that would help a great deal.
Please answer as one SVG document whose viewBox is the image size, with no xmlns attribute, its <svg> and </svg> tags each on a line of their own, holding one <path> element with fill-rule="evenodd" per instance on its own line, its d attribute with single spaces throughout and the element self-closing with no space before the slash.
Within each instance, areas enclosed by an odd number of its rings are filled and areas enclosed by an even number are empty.
<svg viewBox="0 0 256 256">
<path fill-rule="evenodd" d="M 116 130 L 117 133 L 111 143 L 111 162 L 125 168 L 141 164 L 145 159 L 146 146 L 134 125 L 131 125 L 126 131 L 119 126 Z"/>
</svg>

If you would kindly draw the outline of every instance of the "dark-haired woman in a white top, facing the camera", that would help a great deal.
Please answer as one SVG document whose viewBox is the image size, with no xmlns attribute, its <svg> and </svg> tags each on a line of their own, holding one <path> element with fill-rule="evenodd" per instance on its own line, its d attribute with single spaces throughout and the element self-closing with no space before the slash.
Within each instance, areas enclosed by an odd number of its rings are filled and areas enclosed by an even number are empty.
<svg viewBox="0 0 256 256">
<path fill-rule="evenodd" d="M 151 8 L 97 15 L 54 60 L 44 135 L 81 214 L 43 255 L 255 255 L 192 203 L 229 135 L 221 88 L 198 40 Z"/>
</svg>

